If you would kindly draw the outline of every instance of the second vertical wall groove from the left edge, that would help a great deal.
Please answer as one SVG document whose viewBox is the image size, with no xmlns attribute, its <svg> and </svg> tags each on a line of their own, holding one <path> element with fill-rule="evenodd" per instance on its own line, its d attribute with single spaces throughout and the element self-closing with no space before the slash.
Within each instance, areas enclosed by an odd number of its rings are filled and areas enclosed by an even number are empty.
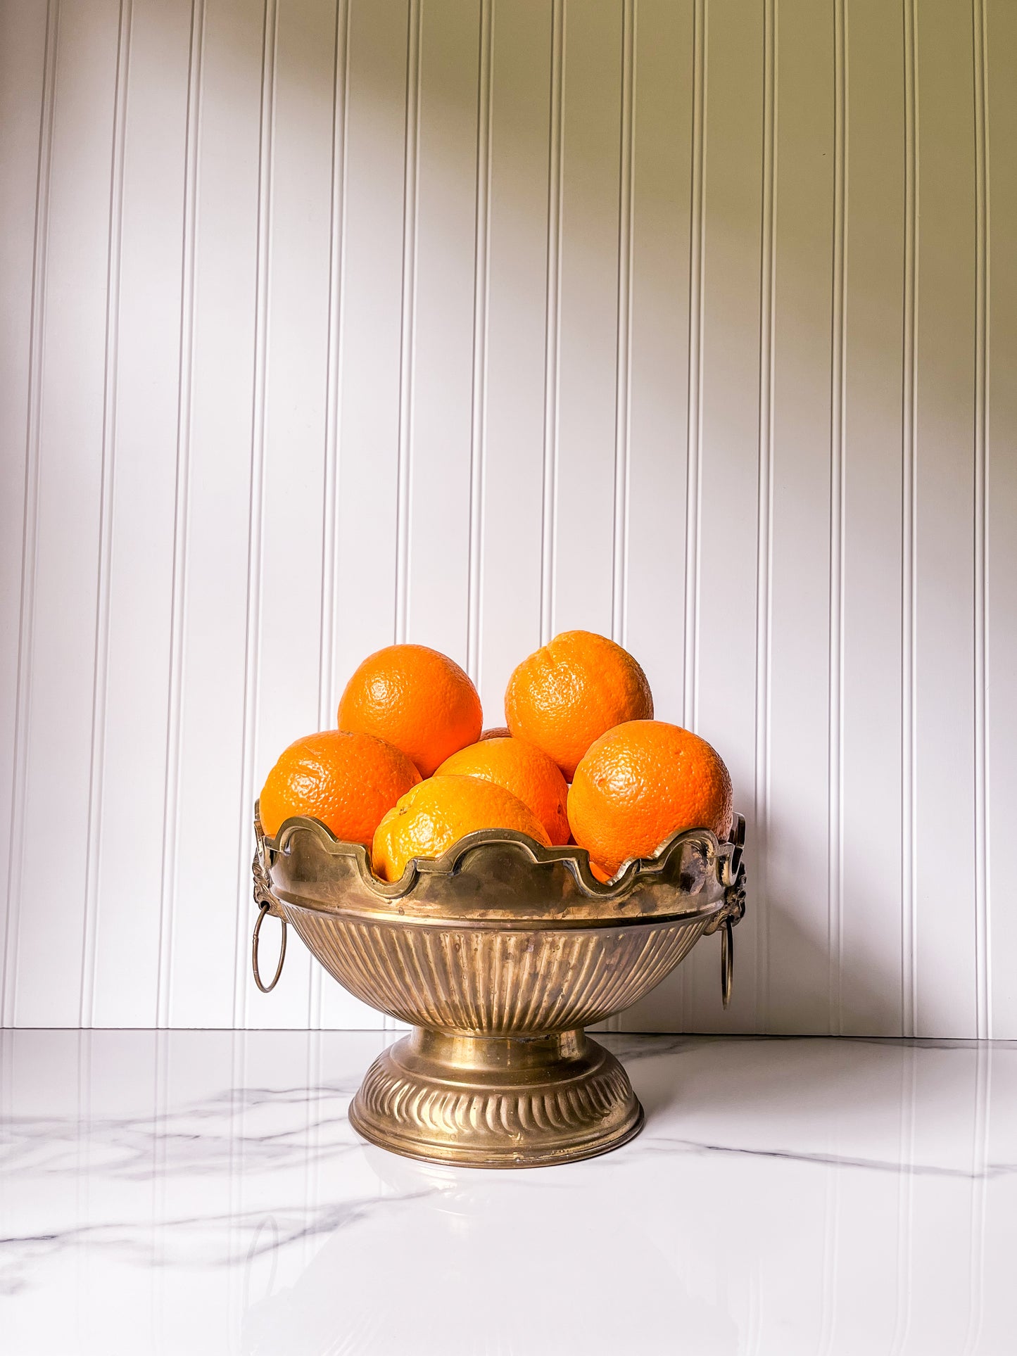
<svg viewBox="0 0 1017 1356">
<path fill-rule="evenodd" d="M 103 355 L 102 472 L 99 488 L 99 561 L 95 589 L 95 664 L 92 670 L 92 735 L 88 757 L 88 818 L 81 926 L 81 993 L 79 1024 L 95 1020 L 95 957 L 99 928 L 99 853 L 106 765 L 106 696 L 110 660 L 110 568 L 113 499 L 117 469 L 117 374 L 119 365 L 121 243 L 123 239 L 123 155 L 130 72 L 132 0 L 121 0 L 117 33 L 117 76 L 113 96 L 110 153 L 110 218 L 106 252 L 106 347 Z"/>
</svg>

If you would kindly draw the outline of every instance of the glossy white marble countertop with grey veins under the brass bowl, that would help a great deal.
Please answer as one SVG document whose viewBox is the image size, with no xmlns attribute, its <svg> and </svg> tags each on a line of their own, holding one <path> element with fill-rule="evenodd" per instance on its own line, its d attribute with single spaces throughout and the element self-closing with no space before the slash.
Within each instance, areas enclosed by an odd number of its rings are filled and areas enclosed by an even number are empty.
<svg viewBox="0 0 1017 1356">
<path fill-rule="evenodd" d="M 613 1154 L 431 1168 L 392 1033 L 0 1033 L 0 1351 L 1010 1356 L 1017 1047 L 609 1036 Z"/>
</svg>

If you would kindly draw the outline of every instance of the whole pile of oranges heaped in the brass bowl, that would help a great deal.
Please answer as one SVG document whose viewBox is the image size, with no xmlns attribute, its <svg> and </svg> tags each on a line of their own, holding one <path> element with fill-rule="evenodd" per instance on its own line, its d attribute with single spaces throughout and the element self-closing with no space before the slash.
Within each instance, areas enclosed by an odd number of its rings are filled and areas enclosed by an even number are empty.
<svg viewBox="0 0 1017 1356">
<path fill-rule="evenodd" d="M 613 640 L 565 631 L 523 659 L 504 719 L 483 730 L 476 687 L 447 655 L 388 645 L 346 685 L 339 728 L 298 739 L 268 773 L 262 826 L 275 837 L 293 815 L 319 819 L 363 843 L 384 880 L 479 829 L 575 842 L 602 880 L 682 829 L 731 833 L 720 755 L 654 720 L 645 674 Z"/>
</svg>

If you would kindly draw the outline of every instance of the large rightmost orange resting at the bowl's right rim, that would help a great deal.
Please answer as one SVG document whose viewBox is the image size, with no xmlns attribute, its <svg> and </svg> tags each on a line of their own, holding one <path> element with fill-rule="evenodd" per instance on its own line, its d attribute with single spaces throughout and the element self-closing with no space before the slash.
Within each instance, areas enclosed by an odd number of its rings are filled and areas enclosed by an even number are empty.
<svg viewBox="0 0 1017 1356">
<path fill-rule="evenodd" d="M 609 875 L 650 857 L 682 829 L 731 833 L 731 777 L 705 739 L 664 720 L 631 720 L 601 735 L 576 767 L 568 822 Z"/>
</svg>

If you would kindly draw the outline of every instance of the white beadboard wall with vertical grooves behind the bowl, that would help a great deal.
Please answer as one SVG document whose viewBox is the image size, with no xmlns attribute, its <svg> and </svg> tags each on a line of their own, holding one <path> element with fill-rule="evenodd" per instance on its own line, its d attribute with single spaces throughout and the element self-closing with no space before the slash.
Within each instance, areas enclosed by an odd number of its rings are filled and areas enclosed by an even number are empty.
<svg viewBox="0 0 1017 1356">
<path fill-rule="evenodd" d="M 362 655 L 613 635 L 749 913 L 626 1029 L 1017 1037 L 1017 5 L 0 0 L 5 1025 L 248 972 Z M 9 829 L 9 834 L 8 834 Z"/>
</svg>

